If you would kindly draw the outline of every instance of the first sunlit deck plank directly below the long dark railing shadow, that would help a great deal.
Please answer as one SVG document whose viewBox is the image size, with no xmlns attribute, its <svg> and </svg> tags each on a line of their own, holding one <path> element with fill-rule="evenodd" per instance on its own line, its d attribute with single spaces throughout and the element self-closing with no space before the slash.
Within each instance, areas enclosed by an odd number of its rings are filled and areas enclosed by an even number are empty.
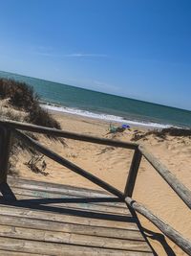
<svg viewBox="0 0 191 256">
<path fill-rule="evenodd" d="M 130 230 L 138 230 L 138 225 L 135 222 L 135 218 L 127 217 L 126 221 L 111 221 L 108 219 L 96 219 L 87 216 L 77 216 L 77 213 L 72 215 L 66 214 L 58 214 L 45 210 L 34 210 L 32 208 L 22 208 L 22 207 L 14 207 L 14 206 L 6 206 L 1 204 L 0 206 L 0 214 L 8 215 L 8 216 L 16 216 L 16 217 L 26 217 L 31 219 L 38 220 L 47 220 L 47 221 L 60 221 L 66 223 L 76 223 L 76 224 L 84 224 L 90 226 L 103 226 L 103 227 L 115 227 L 115 228 L 123 228 Z"/>
</svg>

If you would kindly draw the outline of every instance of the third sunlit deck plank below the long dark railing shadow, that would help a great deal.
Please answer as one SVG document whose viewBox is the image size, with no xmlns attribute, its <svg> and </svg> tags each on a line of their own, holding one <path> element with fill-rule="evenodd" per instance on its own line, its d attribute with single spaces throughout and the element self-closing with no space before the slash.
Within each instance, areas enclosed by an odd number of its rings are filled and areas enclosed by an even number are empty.
<svg viewBox="0 0 191 256">
<path fill-rule="evenodd" d="M 15 227 L 10 225 L 0 225 L 0 237 L 26 239 L 39 242 L 49 242 L 58 244 L 74 244 L 83 246 L 93 246 L 110 249 L 150 251 L 145 241 L 122 240 L 107 237 L 87 236 L 82 234 L 53 232 L 40 229 L 30 229 Z"/>
</svg>

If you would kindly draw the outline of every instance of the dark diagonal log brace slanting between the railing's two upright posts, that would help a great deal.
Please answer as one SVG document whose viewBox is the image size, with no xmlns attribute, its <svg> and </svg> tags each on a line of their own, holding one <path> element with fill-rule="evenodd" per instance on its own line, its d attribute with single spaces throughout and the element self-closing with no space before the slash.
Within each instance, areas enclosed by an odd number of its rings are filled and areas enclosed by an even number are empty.
<svg viewBox="0 0 191 256">
<path fill-rule="evenodd" d="M 72 170 L 75 174 L 82 175 L 83 177 L 87 178 L 88 180 L 92 181 L 99 187 L 105 189 L 106 191 L 114 194 L 118 198 L 123 198 L 123 194 L 111 186 L 110 184 L 106 183 L 105 181 L 101 180 L 100 178 L 96 177 L 96 175 L 92 175 L 88 173 L 87 171 L 83 170 L 82 168 L 76 166 L 74 163 L 70 162 L 69 160 L 65 159 L 64 157 L 60 156 L 59 154 L 46 149 L 44 146 L 40 145 L 38 142 L 34 141 L 29 136 L 21 133 L 20 131 L 17 131 L 15 129 L 12 129 L 12 133 L 14 135 L 21 139 L 24 143 L 26 143 L 28 146 L 30 145 L 33 147 L 36 151 L 39 151 L 43 153 L 44 155 L 48 156 L 49 158 L 53 159 L 55 162 L 59 163 L 62 166 L 65 166 Z"/>
</svg>

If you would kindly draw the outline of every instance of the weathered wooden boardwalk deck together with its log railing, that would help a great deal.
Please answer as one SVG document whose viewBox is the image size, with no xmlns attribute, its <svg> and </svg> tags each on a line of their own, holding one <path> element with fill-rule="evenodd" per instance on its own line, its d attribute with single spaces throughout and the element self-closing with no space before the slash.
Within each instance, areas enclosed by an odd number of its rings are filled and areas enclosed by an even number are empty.
<svg viewBox="0 0 191 256">
<path fill-rule="evenodd" d="M 134 151 L 124 192 L 41 145 L 23 130 Z M 110 194 L 8 179 L 13 137 Z M 142 156 L 191 209 L 191 191 L 141 145 L 0 120 L 0 255 L 153 255 L 135 211 L 191 255 L 190 240 L 132 198 Z"/>
</svg>

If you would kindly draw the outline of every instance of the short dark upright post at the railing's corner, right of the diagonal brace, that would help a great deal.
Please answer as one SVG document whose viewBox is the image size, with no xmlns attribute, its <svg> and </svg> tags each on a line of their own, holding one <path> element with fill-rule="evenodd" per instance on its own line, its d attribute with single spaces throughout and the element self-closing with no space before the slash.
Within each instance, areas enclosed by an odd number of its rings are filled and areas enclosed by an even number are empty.
<svg viewBox="0 0 191 256">
<path fill-rule="evenodd" d="M 141 161 L 141 156 L 142 156 L 141 152 L 138 151 L 138 149 L 136 149 L 134 152 L 133 160 L 132 160 L 128 178 L 127 178 L 127 183 L 125 186 L 125 191 L 124 191 L 125 197 L 132 197 L 134 187 L 136 184 L 136 178 L 138 175 L 138 168 Z"/>
</svg>

